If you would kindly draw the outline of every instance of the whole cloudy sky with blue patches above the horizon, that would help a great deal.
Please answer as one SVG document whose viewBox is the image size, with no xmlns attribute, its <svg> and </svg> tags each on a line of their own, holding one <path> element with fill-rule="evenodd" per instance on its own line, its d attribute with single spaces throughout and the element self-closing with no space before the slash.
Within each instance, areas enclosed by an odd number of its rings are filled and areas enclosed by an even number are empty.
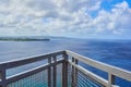
<svg viewBox="0 0 131 87">
<path fill-rule="evenodd" d="M 131 0 L 0 0 L 0 36 L 131 39 Z"/>
</svg>

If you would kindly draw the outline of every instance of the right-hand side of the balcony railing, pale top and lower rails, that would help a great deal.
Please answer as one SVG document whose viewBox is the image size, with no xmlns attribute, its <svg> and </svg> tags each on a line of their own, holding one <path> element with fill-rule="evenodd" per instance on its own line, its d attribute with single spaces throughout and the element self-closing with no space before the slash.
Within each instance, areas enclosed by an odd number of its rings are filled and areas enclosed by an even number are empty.
<svg viewBox="0 0 131 87">
<path fill-rule="evenodd" d="M 112 66 L 112 65 L 109 65 L 109 64 L 105 64 L 105 63 L 95 61 L 93 59 L 80 55 L 78 53 L 68 51 L 68 50 L 66 51 L 66 53 L 73 59 L 72 61 L 69 60 L 69 63 L 73 67 L 81 71 L 86 76 L 90 76 L 91 78 L 93 78 L 94 80 L 96 80 L 97 83 L 99 83 L 100 85 L 103 85 L 105 87 L 118 87 L 115 83 L 116 77 L 123 78 L 123 79 L 131 83 L 131 72 L 130 71 L 122 70 L 122 69 L 119 69 L 119 67 L 116 67 L 116 66 Z M 96 75 L 95 73 L 92 73 L 88 70 L 84 69 L 83 66 L 78 64 L 78 61 L 81 61 L 81 62 L 83 62 L 83 63 L 85 63 L 90 66 L 93 66 L 95 69 L 98 69 L 98 70 L 102 70 L 102 71 L 106 72 L 108 74 L 108 79 L 105 79 L 105 78 Z M 75 75 L 75 73 L 74 73 L 74 75 Z M 76 83 L 74 83 L 74 84 L 76 84 Z"/>
</svg>

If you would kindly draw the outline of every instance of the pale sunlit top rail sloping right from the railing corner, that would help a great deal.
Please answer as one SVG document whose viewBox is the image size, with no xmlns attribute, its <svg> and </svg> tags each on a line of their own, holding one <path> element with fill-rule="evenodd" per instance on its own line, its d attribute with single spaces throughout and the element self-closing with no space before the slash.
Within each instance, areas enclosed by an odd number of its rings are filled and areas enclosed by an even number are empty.
<svg viewBox="0 0 131 87">
<path fill-rule="evenodd" d="M 85 63 L 87 65 L 91 65 L 93 67 L 96 67 L 98 70 L 102 70 L 104 72 L 110 73 L 110 74 L 112 74 L 115 76 L 118 76 L 118 77 L 121 77 L 123 79 L 127 79 L 127 80 L 131 82 L 131 72 L 128 71 L 128 70 L 123 70 L 123 69 L 120 69 L 120 67 L 117 67 L 117 66 L 105 64 L 103 62 L 95 61 L 93 59 L 83 57 L 81 54 L 71 52 L 69 50 L 66 50 L 66 53 L 68 55 L 73 57 L 74 59 L 76 59 L 79 61 L 82 61 L 83 63 Z"/>
</svg>

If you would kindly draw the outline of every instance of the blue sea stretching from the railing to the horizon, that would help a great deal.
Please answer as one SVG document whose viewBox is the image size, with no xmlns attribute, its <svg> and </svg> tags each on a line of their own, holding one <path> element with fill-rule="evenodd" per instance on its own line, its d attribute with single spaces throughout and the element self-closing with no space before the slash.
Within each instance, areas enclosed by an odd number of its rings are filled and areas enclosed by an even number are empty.
<svg viewBox="0 0 131 87">
<path fill-rule="evenodd" d="M 25 57 L 71 50 L 94 60 L 131 71 L 131 40 L 52 39 L 50 41 L 0 41 L 0 62 Z M 84 65 L 84 64 L 83 64 Z M 104 72 L 85 66 L 107 78 Z M 123 79 L 116 82 L 121 87 L 131 87 Z"/>
</svg>

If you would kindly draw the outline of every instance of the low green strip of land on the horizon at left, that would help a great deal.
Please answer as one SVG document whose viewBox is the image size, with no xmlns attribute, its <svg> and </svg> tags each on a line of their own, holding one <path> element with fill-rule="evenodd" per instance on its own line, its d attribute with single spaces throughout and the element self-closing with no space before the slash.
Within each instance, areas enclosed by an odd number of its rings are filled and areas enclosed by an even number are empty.
<svg viewBox="0 0 131 87">
<path fill-rule="evenodd" d="M 36 37 L 0 37 L 0 40 L 5 41 L 49 41 L 49 38 L 36 38 Z"/>
</svg>

